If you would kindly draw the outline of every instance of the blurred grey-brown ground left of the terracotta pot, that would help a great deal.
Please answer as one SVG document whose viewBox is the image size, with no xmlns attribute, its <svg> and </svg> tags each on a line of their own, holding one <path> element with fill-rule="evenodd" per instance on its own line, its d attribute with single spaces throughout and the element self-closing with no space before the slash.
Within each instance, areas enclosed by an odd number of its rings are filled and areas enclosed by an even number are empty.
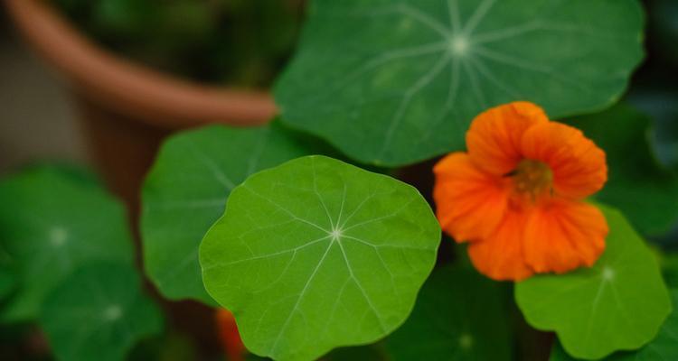
<svg viewBox="0 0 678 361">
<path fill-rule="evenodd" d="M 88 161 L 64 84 L 21 42 L 0 6 L 0 172 L 44 158 Z"/>
</svg>

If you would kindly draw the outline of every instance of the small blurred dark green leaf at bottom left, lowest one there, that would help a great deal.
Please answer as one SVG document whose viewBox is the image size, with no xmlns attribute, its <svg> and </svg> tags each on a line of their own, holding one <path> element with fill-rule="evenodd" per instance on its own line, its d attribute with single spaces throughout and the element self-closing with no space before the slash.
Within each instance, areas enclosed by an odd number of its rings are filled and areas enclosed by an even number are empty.
<svg viewBox="0 0 678 361">
<path fill-rule="evenodd" d="M 45 300 L 40 325 L 60 360 L 117 361 L 137 341 L 160 333 L 163 319 L 141 293 L 130 264 L 91 264 Z"/>
</svg>

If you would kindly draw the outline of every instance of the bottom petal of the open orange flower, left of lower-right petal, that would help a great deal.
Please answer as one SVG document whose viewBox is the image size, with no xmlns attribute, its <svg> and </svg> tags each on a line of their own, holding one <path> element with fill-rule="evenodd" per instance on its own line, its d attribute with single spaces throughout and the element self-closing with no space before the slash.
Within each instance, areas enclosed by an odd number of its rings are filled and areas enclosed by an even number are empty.
<svg viewBox="0 0 678 361">
<path fill-rule="evenodd" d="M 521 281 L 532 275 L 523 256 L 523 212 L 510 210 L 492 236 L 468 245 L 476 269 L 497 281 Z"/>
</svg>

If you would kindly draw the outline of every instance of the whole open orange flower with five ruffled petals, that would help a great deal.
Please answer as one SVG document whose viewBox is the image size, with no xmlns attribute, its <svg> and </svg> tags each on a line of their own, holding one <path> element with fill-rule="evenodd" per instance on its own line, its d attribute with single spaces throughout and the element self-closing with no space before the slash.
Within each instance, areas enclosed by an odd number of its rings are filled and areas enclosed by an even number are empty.
<svg viewBox="0 0 678 361">
<path fill-rule="evenodd" d="M 582 199 L 607 180 L 605 153 L 578 129 L 515 102 L 477 116 L 468 153 L 434 167 L 441 227 L 481 273 L 519 281 L 590 266 L 605 249 L 607 221 Z"/>
</svg>

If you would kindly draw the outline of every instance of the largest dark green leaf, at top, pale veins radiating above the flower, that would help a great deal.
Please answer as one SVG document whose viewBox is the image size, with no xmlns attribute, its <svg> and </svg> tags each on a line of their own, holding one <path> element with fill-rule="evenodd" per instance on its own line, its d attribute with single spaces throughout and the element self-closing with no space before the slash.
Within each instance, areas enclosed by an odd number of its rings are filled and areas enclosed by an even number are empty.
<svg viewBox="0 0 678 361">
<path fill-rule="evenodd" d="M 283 120 L 362 162 L 464 147 L 489 106 L 613 104 L 643 59 L 636 0 L 315 0 L 279 79 Z"/>
</svg>

